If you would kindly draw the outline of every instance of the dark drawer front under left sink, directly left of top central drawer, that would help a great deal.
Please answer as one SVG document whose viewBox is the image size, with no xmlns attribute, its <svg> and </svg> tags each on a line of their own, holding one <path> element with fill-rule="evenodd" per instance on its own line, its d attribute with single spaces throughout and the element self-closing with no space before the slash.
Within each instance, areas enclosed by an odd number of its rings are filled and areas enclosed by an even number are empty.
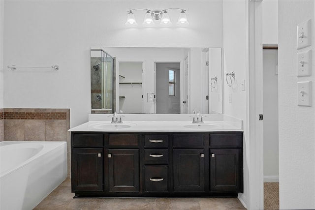
<svg viewBox="0 0 315 210">
<path fill-rule="evenodd" d="M 109 134 L 109 146 L 139 146 L 138 134 Z"/>
</svg>

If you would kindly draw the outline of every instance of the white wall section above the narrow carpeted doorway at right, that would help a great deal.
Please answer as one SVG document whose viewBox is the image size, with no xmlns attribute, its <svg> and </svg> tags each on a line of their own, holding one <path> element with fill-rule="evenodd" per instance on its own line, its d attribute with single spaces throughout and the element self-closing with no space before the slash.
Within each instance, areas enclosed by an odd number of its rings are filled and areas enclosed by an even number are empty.
<svg viewBox="0 0 315 210">
<path fill-rule="evenodd" d="M 262 43 L 278 44 L 278 0 L 263 0 L 262 4 Z"/>
</svg>

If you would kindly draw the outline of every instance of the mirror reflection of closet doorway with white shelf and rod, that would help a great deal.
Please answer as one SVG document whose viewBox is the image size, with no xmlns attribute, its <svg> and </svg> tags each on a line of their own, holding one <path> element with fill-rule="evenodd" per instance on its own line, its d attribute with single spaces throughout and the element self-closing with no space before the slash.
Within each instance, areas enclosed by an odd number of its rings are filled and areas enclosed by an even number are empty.
<svg viewBox="0 0 315 210">
<path fill-rule="evenodd" d="M 119 62 L 119 110 L 143 113 L 142 62 Z"/>
</svg>

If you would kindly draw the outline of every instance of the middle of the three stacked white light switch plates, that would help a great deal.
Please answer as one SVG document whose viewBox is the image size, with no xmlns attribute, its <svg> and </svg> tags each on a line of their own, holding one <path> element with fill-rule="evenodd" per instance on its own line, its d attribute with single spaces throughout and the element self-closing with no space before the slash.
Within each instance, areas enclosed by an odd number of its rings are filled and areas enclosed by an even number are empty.
<svg viewBox="0 0 315 210">
<path fill-rule="evenodd" d="M 311 50 L 303 51 L 297 54 L 297 76 L 311 76 Z"/>
</svg>

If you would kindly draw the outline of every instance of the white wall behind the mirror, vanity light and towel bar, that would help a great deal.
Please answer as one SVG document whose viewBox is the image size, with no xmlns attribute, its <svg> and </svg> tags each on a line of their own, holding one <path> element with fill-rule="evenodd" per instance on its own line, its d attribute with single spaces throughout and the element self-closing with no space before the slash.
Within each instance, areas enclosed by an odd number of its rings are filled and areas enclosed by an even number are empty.
<svg viewBox="0 0 315 210">
<path fill-rule="evenodd" d="M 170 7 L 187 9 L 189 27 L 125 26 L 130 9 Z M 221 0 L 6 0 L 4 8 L 3 65 L 60 65 L 59 71 L 5 68 L 4 107 L 69 107 L 71 127 L 91 112 L 90 47 L 222 47 Z"/>
</svg>

